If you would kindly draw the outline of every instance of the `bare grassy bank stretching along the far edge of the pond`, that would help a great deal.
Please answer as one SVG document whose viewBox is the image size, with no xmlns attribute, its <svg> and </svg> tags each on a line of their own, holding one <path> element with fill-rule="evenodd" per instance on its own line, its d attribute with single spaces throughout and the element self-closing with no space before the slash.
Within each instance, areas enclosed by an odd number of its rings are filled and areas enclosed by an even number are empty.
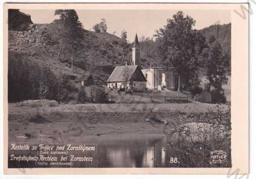
<svg viewBox="0 0 256 179">
<path fill-rule="evenodd" d="M 175 108 L 173 108 L 175 107 Z M 177 125 L 187 122 L 187 118 L 178 119 L 179 115 L 193 113 L 195 107 L 205 113 L 215 104 L 76 104 L 58 107 L 15 107 L 9 105 L 9 138 L 19 141 L 21 137 L 65 138 L 82 137 L 96 134 L 120 133 L 164 133 L 177 129 Z M 223 110 L 227 105 L 221 105 Z M 168 121 L 150 121 L 146 118 L 153 109 L 157 118 Z"/>
</svg>

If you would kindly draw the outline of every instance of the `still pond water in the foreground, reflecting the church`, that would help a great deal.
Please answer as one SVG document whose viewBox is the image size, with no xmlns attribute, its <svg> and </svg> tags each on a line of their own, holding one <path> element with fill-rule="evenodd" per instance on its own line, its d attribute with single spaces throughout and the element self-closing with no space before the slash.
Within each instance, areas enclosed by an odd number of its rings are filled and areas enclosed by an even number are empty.
<svg viewBox="0 0 256 179">
<path fill-rule="evenodd" d="M 29 145 L 39 144 L 87 144 L 95 146 L 95 151 L 73 151 L 70 150 L 67 156 L 90 156 L 91 162 L 73 162 L 72 167 L 168 167 L 169 158 L 166 155 L 166 141 L 163 134 L 104 134 L 101 136 L 79 136 L 65 138 L 59 141 L 50 138 L 31 138 L 20 137 L 11 138 L 10 141 L 19 143 L 29 143 Z M 9 167 L 64 167 L 56 165 L 34 165 L 33 162 L 15 162 L 10 160 L 10 156 L 31 155 L 35 156 L 36 151 L 31 150 L 10 150 L 9 143 Z M 57 144 L 58 143 L 58 144 Z M 16 143 L 18 145 L 18 143 Z M 54 155 L 52 155 L 54 156 Z M 169 155 L 168 155 L 169 156 Z M 68 159 L 67 162 L 70 159 Z M 71 166 L 65 166 L 71 167 Z"/>
</svg>

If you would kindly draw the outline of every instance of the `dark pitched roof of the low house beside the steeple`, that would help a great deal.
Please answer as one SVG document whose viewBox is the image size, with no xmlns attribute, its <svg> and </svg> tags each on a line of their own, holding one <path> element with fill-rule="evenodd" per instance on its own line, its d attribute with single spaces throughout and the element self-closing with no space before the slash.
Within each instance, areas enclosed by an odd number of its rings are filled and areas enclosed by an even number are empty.
<svg viewBox="0 0 256 179">
<path fill-rule="evenodd" d="M 107 82 L 125 81 L 123 76 L 125 72 L 125 68 L 128 68 L 129 73 L 131 74 L 128 81 L 147 81 L 138 65 L 129 65 L 129 66 L 116 66 L 116 68 L 113 70 L 110 77 L 108 78 Z"/>
</svg>

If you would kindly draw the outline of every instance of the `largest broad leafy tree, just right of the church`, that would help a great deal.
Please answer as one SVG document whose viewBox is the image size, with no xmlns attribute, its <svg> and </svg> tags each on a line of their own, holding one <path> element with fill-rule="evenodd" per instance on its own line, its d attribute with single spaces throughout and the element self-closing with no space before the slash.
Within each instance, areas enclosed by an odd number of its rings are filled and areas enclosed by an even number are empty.
<svg viewBox="0 0 256 179">
<path fill-rule="evenodd" d="M 192 30 L 195 20 L 179 11 L 167 19 L 164 28 L 157 30 L 156 41 L 166 66 L 173 66 L 178 75 L 178 89 L 181 85 L 198 85 L 198 57 L 205 46 L 205 38 L 199 31 Z"/>
</svg>

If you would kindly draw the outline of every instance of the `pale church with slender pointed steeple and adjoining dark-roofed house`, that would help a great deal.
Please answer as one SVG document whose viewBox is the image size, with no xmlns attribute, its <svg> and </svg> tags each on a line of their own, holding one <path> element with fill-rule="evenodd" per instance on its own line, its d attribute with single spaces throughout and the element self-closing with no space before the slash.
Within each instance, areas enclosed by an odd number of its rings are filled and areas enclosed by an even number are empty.
<svg viewBox="0 0 256 179">
<path fill-rule="evenodd" d="M 129 78 L 125 77 L 127 72 L 129 73 Z M 126 63 L 125 66 L 116 66 L 108 78 L 108 88 L 125 88 L 127 81 L 129 88 L 137 90 L 175 90 L 173 68 L 151 66 L 149 69 L 141 69 L 140 44 L 137 34 L 132 48 L 131 65 Z"/>
</svg>

